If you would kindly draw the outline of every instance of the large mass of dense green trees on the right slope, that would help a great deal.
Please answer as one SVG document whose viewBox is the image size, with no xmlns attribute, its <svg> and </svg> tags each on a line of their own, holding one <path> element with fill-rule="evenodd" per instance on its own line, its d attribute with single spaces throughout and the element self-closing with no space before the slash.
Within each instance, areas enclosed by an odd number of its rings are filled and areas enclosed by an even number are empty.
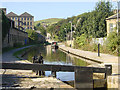
<svg viewBox="0 0 120 90">
<path fill-rule="evenodd" d="M 69 21 L 72 21 L 72 23 L 76 25 L 74 38 L 80 37 L 82 34 L 85 34 L 87 38 L 91 36 L 94 38 L 105 37 L 107 33 L 106 18 L 113 14 L 111 8 L 112 5 L 110 2 L 100 1 L 96 3 L 96 7 L 93 11 L 63 19 L 58 23 L 51 25 L 47 31 L 50 32 L 52 36 L 58 36 L 59 40 L 62 39 L 64 41 L 64 28 L 66 26 L 69 27 L 67 28 L 69 33 L 71 31 Z"/>
</svg>

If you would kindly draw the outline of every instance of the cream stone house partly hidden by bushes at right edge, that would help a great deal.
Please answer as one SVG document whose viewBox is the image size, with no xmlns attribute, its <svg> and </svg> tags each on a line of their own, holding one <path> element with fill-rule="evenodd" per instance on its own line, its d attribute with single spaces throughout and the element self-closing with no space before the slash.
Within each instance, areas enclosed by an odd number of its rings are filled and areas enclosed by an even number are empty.
<svg viewBox="0 0 120 90">
<path fill-rule="evenodd" d="M 120 13 L 118 17 L 119 17 L 118 21 L 120 22 Z M 109 36 L 109 33 L 113 32 L 117 27 L 117 14 L 114 14 L 106 18 L 106 24 L 107 24 L 107 36 Z"/>
</svg>

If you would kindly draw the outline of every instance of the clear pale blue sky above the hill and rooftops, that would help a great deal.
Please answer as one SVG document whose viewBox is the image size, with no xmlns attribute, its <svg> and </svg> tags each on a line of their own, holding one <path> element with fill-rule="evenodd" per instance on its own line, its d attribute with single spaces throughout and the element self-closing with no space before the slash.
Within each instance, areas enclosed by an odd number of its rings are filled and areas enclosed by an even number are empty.
<svg viewBox="0 0 120 90">
<path fill-rule="evenodd" d="M 67 18 L 94 10 L 96 2 L 2 2 L 1 7 L 7 8 L 7 13 L 18 15 L 28 12 L 34 20 L 48 18 Z M 115 5 L 114 5 L 115 6 Z"/>
</svg>

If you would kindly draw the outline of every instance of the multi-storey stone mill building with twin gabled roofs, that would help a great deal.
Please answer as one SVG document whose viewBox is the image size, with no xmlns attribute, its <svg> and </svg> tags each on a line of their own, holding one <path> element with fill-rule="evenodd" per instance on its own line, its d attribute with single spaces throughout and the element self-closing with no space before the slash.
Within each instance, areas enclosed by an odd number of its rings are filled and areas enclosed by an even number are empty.
<svg viewBox="0 0 120 90">
<path fill-rule="evenodd" d="M 21 15 L 17 15 L 13 12 L 10 12 L 6 15 L 9 19 L 13 20 L 15 27 L 20 30 L 32 29 L 34 30 L 34 16 L 24 12 Z"/>
</svg>

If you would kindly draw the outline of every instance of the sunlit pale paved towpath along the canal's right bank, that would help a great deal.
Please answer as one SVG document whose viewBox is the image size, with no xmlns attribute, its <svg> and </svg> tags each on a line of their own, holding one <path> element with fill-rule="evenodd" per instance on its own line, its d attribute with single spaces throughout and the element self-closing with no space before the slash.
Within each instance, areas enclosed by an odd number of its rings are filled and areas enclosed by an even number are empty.
<svg viewBox="0 0 120 90">
<path fill-rule="evenodd" d="M 70 47 L 66 47 L 65 45 L 60 45 L 59 48 L 65 51 L 69 51 L 70 53 L 78 56 L 89 58 L 94 61 L 99 61 L 101 62 L 102 66 L 105 64 L 111 64 L 113 66 L 113 73 L 118 73 L 118 61 L 120 58 L 118 56 L 100 53 L 100 57 L 98 57 L 98 53 L 96 52 L 73 49 Z"/>
</svg>

